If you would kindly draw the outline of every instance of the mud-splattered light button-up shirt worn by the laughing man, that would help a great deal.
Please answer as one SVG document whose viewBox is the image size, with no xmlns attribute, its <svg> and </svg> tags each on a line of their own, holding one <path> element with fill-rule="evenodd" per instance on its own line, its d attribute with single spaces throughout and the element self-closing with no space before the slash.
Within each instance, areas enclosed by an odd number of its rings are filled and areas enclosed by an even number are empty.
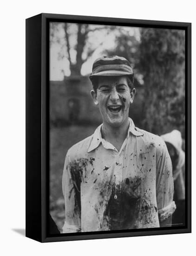
<svg viewBox="0 0 196 256">
<path fill-rule="evenodd" d="M 118 151 L 101 137 L 101 126 L 67 152 L 63 233 L 159 227 L 175 210 L 165 143 L 130 119 Z"/>
</svg>

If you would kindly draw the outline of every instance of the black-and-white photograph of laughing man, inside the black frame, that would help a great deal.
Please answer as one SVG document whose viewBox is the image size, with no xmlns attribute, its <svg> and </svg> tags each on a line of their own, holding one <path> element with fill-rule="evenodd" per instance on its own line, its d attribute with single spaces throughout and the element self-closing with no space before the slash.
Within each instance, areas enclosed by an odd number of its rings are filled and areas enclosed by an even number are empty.
<svg viewBox="0 0 196 256">
<path fill-rule="evenodd" d="M 49 234 L 187 225 L 179 28 L 49 22 Z"/>
</svg>

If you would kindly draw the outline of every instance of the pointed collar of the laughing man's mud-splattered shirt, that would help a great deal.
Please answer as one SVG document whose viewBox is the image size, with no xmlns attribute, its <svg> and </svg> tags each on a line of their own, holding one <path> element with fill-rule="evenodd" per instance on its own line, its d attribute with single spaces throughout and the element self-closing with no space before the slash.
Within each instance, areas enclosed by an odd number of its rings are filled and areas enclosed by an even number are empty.
<svg viewBox="0 0 196 256">
<path fill-rule="evenodd" d="M 144 134 L 137 130 L 137 128 L 134 125 L 134 122 L 131 118 L 129 118 L 130 121 L 130 125 L 129 125 L 129 129 L 128 129 L 128 133 L 132 133 L 135 136 L 143 136 Z M 95 148 L 98 148 L 99 144 L 103 141 L 102 137 L 101 137 L 101 127 L 103 124 L 99 125 L 98 128 L 95 130 L 93 136 L 92 136 L 92 140 L 90 143 L 90 146 L 88 148 L 88 153 L 91 152 L 92 150 L 94 150 Z"/>
</svg>

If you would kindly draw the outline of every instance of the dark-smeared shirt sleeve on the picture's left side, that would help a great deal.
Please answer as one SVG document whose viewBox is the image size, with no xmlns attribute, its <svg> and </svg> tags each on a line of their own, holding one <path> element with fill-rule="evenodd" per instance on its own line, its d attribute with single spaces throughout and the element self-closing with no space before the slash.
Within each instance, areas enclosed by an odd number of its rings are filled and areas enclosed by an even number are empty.
<svg viewBox="0 0 196 256">
<path fill-rule="evenodd" d="M 65 198 L 65 223 L 62 233 L 81 232 L 80 187 L 74 171 L 70 156 L 67 153 L 62 178 L 62 189 Z"/>
</svg>

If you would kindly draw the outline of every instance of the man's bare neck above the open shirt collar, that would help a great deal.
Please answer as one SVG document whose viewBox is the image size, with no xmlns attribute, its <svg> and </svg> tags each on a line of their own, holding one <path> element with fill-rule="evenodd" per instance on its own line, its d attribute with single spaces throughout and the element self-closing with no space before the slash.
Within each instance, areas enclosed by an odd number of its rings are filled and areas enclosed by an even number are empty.
<svg viewBox="0 0 196 256">
<path fill-rule="evenodd" d="M 126 123 L 119 127 L 112 127 L 103 123 L 101 129 L 102 138 L 114 145 L 114 147 L 119 151 L 126 139 L 129 123 L 129 120 L 127 120 Z"/>
</svg>

